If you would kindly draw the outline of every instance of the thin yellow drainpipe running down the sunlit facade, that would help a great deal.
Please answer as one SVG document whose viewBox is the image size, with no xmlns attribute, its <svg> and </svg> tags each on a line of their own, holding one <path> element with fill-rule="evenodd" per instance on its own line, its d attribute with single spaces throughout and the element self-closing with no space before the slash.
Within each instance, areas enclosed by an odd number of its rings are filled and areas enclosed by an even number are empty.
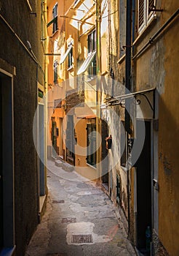
<svg viewBox="0 0 179 256">
<path fill-rule="evenodd" d="M 101 74 L 101 45 L 100 45 L 100 22 L 101 22 L 101 0 L 96 1 L 96 162 L 97 162 L 97 176 L 100 180 L 100 74 Z"/>
</svg>

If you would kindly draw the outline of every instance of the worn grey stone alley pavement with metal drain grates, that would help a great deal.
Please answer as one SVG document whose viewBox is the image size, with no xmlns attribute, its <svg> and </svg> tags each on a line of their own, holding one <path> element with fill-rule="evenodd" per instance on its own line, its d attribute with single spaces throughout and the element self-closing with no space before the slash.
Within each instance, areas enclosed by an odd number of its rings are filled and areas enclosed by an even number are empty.
<svg viewBox="0 0 179 256">
<path fill-rule="evenodd" d="M 108 196 L 74 170 L 48 162 L 47 211 L 25 256 L 135 255 Z"/>
</svg>

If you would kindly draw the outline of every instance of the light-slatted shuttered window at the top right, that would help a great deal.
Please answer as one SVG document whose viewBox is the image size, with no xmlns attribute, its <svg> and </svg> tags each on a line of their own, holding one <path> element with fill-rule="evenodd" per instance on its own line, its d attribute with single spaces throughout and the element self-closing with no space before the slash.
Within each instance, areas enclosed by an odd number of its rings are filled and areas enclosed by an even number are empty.
<svg viewBox="0 0 179 256">
<path fill-rule="evenodd" d="M 138 32 L 140 33 L 148 25 L 155 13 L 152 8 L 155 0 L 138 0 Z"/>
</svg>

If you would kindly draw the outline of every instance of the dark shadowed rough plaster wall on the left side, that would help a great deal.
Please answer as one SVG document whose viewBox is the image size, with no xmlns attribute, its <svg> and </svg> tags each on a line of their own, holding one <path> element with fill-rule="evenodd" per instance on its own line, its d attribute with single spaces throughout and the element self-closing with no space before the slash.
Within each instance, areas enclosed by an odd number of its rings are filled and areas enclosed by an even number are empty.
<svg viewBox="0 0 179 256">
<path fill-rule="evenodd" d="M 1 1 L 1 15 L 43 68 L 41 47 L 40 1 L 31 1 L 35 15 L 30 15 L 25 1 Z M 15 136 L 15 244 L 16 255 L 23 256 L 38 224 L 37 154 L 33 145 L 33 116 L 37 107 L 37 81 L 44 84 L 44 74 L 26 52 L 15 35 L 0 19 L 0 58 L 16 68 L 14 79 Z M 37 72 L 38 71 L 38 72 Z M 37 75 L 38 74 L 38 75 Z"/>
</svg>

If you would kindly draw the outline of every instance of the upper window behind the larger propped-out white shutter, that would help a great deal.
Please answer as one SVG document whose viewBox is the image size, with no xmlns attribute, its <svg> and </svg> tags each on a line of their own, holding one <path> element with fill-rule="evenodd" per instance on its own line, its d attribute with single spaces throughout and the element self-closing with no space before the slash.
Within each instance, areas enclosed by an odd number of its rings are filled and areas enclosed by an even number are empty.
<svg viewBox="0 0 179 256">
<path fill-rule="evenodd" d="M 96 50 L 96 31 L 95 30 L 88 35 L 87 43 L 88 43 L 88 53 L 90 55 L 90 53 L 93 53 Z M 88 74 L 96 75 L 96 57 L 95 56 L 92 59 L 92 61 L 90 61 L 90 66 L 88 67 Z"/>
</svg>

